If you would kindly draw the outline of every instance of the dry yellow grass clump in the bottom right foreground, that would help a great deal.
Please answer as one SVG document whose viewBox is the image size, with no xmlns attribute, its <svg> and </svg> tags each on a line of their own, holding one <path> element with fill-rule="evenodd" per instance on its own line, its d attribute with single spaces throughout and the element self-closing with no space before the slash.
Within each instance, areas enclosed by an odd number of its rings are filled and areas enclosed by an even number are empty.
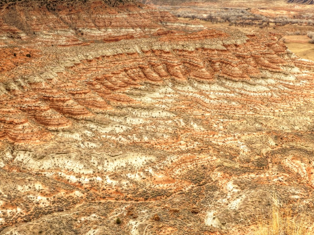
<svg viewBox="0 0 314 235">
<path fill-rule="evenodd" d="M 310 235 L 308 217 L 293 217 L 290 208 L 279 208 L 276 195 L 273 199 L 272 214 L 256 216 L 257 226 L 252 229 L 252 235 Z"/>
</svg>

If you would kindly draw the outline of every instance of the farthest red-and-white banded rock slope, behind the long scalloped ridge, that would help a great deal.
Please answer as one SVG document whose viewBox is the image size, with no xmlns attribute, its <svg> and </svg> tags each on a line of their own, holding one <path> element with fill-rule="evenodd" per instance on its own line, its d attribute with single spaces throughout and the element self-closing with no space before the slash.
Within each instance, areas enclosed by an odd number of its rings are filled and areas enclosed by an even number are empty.
<svg viewBox="0 0 314 235">
<path fill-rule="evenodd" d="M 84 45 L 89 40 L 145 38 L 169 29 L 203 29 L 200 24 L 178 22 L 166 11 L 121 3 L 119 8 L 103 1 L 8 3 L 0 7 L 0 37 L 8 43 L 23 39 L 49 45 Z"/>
</svg>

